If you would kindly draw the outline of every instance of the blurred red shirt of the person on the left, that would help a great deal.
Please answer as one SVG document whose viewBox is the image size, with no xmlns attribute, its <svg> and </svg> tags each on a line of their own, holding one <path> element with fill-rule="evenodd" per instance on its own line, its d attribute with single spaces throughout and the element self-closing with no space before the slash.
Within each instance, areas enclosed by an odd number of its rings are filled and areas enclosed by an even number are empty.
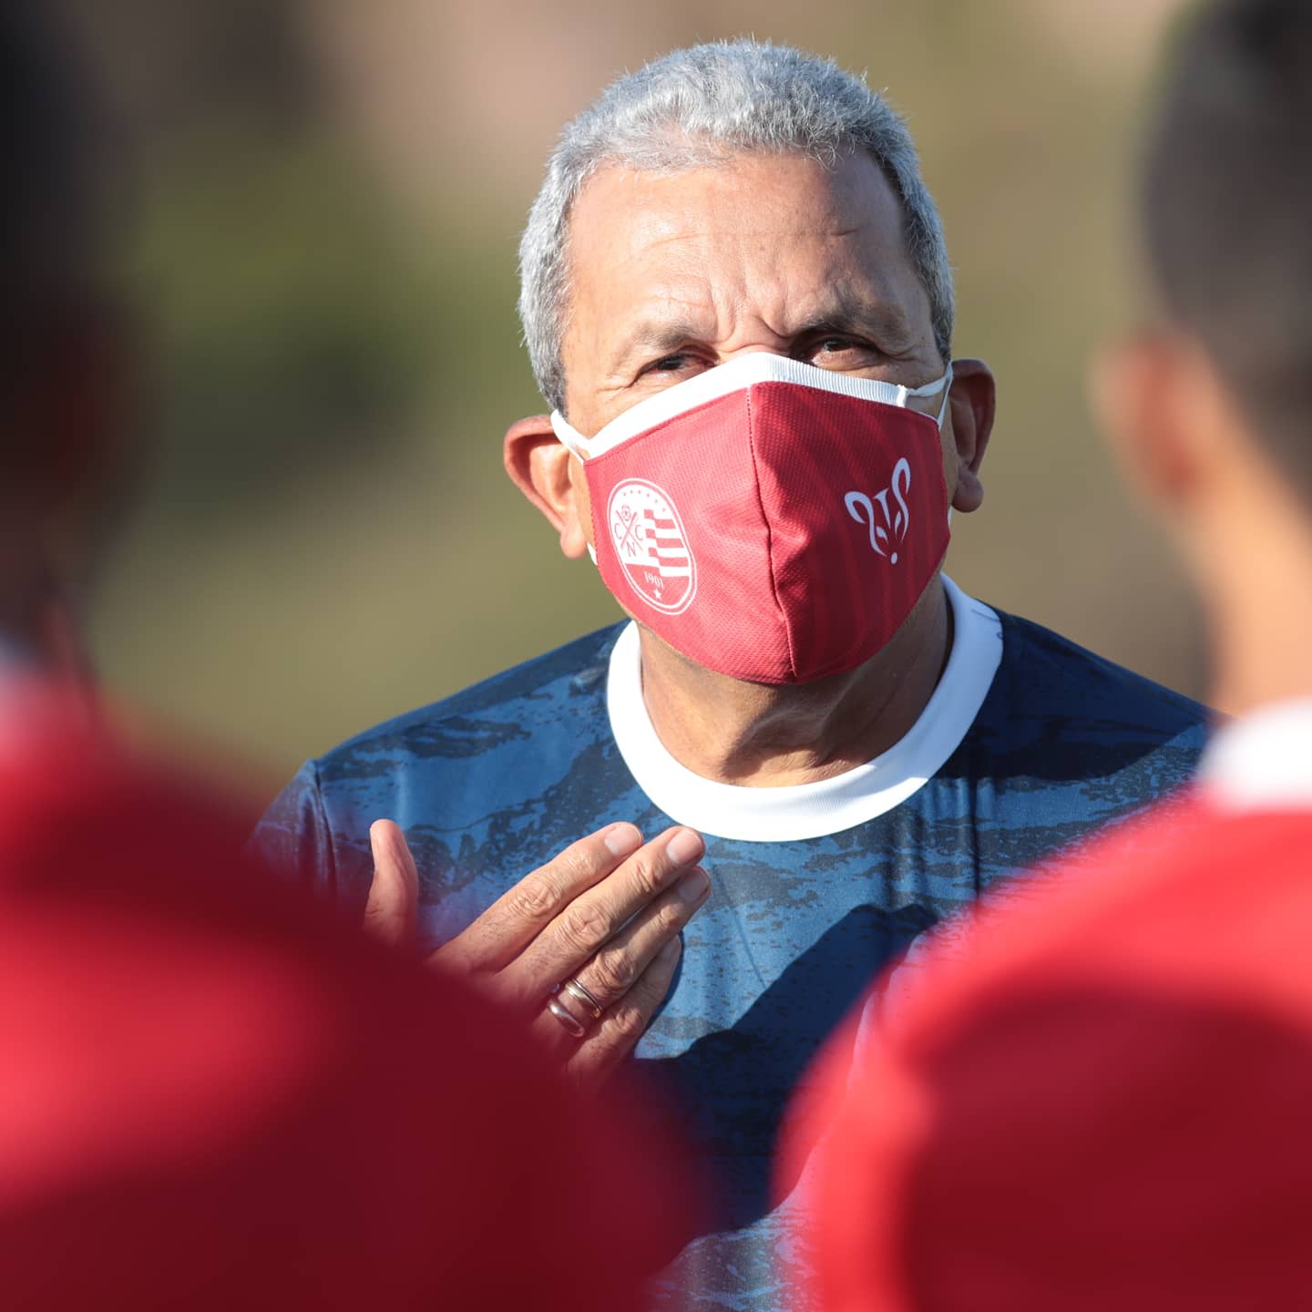
<svg viewBox="0 0 1312 1312">
<path fill-rule="evenodd" d="M 0 726 L 5 1304 L 635 1307 L 682 1212 L 627 1085 L 594 1105 L 518 1018 L 249 869 L 245 813 L 62 712 Z"/>
</svg>

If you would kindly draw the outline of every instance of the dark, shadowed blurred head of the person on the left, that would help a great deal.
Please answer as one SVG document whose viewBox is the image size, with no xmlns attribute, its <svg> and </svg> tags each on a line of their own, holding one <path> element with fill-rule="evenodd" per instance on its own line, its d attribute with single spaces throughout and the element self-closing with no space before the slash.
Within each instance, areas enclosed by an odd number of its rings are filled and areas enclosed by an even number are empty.
<svg viewBox="0 0 1312 1312">
<path fill-rule="evenodd" d="M 0 638 L 58 663 L 136 459 L 106 278 L 106 115 L 43 5 L 0 4 Z"/>
</svg>

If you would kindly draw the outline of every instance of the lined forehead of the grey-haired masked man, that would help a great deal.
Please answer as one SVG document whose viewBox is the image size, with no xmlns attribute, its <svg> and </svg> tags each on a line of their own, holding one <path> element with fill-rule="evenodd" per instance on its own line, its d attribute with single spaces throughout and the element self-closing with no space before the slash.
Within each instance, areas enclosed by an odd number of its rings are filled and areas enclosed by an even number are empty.
<svg viewBox="0 0 1312 1312">
<path fill-rule="evenodd" d="M 891 342 L 918 336 L 909 319 L 928 314 L 901 206 L 869 156 L 837 169 L 766 156 L 677 174 L 607 171 L 576 220 L 576 324 L 593 321 L 606 365 L 724 338 L 740 318 L 781 336 L 832 324 Z"/>
</svg>

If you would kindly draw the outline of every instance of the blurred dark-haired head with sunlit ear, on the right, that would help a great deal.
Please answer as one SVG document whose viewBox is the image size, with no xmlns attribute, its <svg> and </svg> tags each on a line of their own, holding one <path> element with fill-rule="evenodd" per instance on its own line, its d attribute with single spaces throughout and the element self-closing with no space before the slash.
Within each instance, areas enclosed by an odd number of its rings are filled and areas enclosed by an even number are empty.
<svg viewBox="0 0 1312 1312">
<path fill-rule="evenodd" d="M 1140 184 L 1156 321 L 1096 382 L 1131 480 L 1211 597 L 1312 567 L 1309 131 L 1312 8 L 1198 7 Z"/>
</svg>

